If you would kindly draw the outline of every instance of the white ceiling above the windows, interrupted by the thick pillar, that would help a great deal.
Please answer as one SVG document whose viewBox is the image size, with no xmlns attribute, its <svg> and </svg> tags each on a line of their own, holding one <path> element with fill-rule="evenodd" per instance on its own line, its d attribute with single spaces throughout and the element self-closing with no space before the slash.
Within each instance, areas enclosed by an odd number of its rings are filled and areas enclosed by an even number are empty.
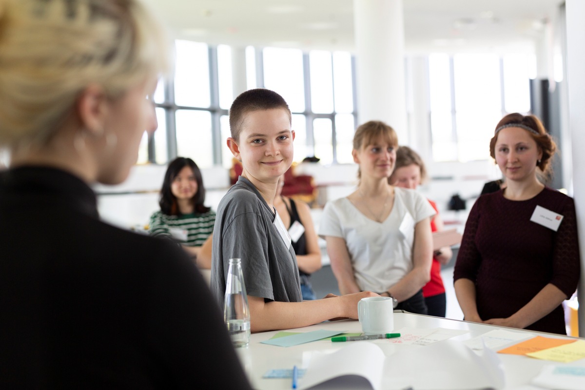
<svg viewBox="0 0 585 390">
<path fill-rule="evenodd" d="M 174 37 L 232 46 L 353 51 L 354 0 L 144 0 Z M 366 1 L 366 0 L 355 0 Z M 387 0 L 394 1 L 394 0 Z M 405 47 L 531 52 L 562 0 L 402 0 Z"/>
</svg>

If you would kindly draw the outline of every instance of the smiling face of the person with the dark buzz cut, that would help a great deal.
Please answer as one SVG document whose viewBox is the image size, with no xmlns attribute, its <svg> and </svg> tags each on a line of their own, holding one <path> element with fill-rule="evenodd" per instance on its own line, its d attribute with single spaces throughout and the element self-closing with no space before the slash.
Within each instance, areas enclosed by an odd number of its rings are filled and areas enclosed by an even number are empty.
<svg viewBox="0 0 585 390">
<path fill-rule="evenodd" d="M 228 139 L 233 156 L 242 161 L 242 176 L 256 182 L 276 183 L 292 164 L 294 131 L 284 109 L 246 114 L 239 141 Z M 257 187 L 257 186 L 256 186 Z"/>
</svg>

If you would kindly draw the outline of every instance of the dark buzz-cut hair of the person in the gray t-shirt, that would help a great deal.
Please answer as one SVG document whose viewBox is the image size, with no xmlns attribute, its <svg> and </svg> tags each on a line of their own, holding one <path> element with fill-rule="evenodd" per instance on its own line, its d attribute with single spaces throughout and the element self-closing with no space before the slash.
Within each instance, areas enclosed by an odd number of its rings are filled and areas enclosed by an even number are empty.
<svg viewBox="0 0 585 390">
<path fill-rule="evenodd" d="M 288 115 L 289 122 L 292 122 L 292 115 L 287 102 L 283 99 L 283 96 L 278 95 L 276 92 L 266 88 L 256 88 L 239 94 L 229 108 L 229 129 L 232 138 L 239 141 L 248 113 L 270 109 L 283 109 Z"/>
</svg>

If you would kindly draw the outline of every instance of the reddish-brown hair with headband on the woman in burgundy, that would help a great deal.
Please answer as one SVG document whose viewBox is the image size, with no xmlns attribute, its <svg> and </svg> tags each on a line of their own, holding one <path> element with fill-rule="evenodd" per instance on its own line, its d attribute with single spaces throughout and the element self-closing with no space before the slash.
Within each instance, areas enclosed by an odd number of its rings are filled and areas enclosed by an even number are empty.
<svg viewBox="0 0 585 390">
<path fill-rule="evenodd" d="M 537 163 L 537 167 L 545 174 L 546 176 L 552 175 L 552 158 L 555 156 L 556 151 L 556 143 L 552 139 L 552 136 L 548 132 L 546 132 L 545 126 L 542 124 L 541 120 L 538 119 L 535 115 L 522 115 L 521 113 L 515 112 L 504 116 L 504 118 L 500 119 L 500 122 L 495 126 L 495 130 L 499 129 L 501 126 L 504 125 L 524 125 L 530 127 L 538 134 L 534 134 L 528 132 L 528 134 L 534 139 L 536 142 L 536 146 L 542 150 L 542 158 L 541 161 Z M 495 131 L 494 130 L 494 131 Z M 492 139 L 490 140 L 490 156 L 495 160 L 495 143 L 498 140 L 498 133 L 495 133 Z"/>
</svg>

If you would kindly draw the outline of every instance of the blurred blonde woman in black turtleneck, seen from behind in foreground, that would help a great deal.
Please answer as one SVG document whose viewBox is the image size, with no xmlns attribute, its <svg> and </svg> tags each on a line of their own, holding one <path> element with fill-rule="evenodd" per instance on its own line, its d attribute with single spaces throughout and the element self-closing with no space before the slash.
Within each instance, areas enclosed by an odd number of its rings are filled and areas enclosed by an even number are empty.
<svg viewBox="0 0 585 390">
<path fill-rule="evenodd" d="M 128 177 L 166 62 L 139 1 L 0 0 L 0 388 L 250 388 L 192 261 L 90 187 Z"/>
</svg>

